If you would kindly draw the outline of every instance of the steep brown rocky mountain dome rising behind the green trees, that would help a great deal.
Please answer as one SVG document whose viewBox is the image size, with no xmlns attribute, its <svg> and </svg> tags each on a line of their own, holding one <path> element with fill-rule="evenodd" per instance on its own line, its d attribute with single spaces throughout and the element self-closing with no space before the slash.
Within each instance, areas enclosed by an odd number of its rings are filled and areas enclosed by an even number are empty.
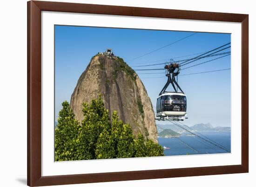
<svg viewBox="0 0 256 187">
<path fill-rule="evenodd" d="M 119 57 L 97 54 L 81 74 L 70 105 L 76 119 L 82 120 L 82 103 L 90 102 L 101 93 L 111 115 L 118 112 L 138 133 L 157 142 L 155 114 L 147 91 L 138 75 Z"/>
</svg>

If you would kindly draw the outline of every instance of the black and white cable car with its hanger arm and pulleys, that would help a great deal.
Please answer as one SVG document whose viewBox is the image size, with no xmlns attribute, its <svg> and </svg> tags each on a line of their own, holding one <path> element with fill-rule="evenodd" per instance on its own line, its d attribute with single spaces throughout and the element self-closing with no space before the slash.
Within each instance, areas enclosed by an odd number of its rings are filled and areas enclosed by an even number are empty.
<svg viewBox="0 0 256 187">
<path fill-rule="evenodd" d="M 180 66 L 172 60 L 164 68 L 168 80 L 156 101 L 156 117 L 159 117 L 158 120 L 184 120 L 187 115 L 187 98 L 175 80 L 175 76 L 180 73 Z M 175 92 L 165 91 L 169 84 L 173 86 Z M 181 92 L 178 92 L 178 89 Z"/>
</svg>

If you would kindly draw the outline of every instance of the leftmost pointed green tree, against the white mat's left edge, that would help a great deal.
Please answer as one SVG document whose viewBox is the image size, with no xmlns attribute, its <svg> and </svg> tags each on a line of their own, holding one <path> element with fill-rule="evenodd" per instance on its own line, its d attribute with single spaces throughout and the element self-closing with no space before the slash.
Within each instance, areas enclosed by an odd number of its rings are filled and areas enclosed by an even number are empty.
<svg viewBox="0 0 256 187">
<path fill-rule="evenodd" d="M 81 126 L 67 101 L 62 103 L 55 128 L 55 160 L 77 160 L 77 139 Z"/>
</svg>

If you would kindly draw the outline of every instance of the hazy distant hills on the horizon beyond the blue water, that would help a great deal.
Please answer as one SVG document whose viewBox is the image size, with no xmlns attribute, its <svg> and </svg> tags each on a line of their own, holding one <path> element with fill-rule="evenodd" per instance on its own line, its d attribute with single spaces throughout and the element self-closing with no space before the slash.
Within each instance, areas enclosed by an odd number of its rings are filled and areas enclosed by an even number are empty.
<svg viewBox="0 0 256 187">
<path fill-rule="evenodd" d="M 171 129 L 172 131 L 175 131 L 179 134 L 182 134 L 184 132 L 186 132 L 184 129 L 176 126 L 175 124 L 166 124 L 166 125 L 161 125 L 159 124 L 160 127 L 165 128 L 165 129 Z M 178 124 L 179 126 L 186 128 L 186 126 L 183 126 L 181 124 Z M 199 123 L 199 124 L 195 124 L 192 127 L 193 130 L 195 131 L 205 131 L 205 132 L 229 132 L 231 130 L 230 127 L 212 127 L 212 125 L 210 123 Z M 161 132 L 162 129 L 158 128 L 158 132 Z M 190 129 L 191 130 L 191 129 Z"/>
</svg>

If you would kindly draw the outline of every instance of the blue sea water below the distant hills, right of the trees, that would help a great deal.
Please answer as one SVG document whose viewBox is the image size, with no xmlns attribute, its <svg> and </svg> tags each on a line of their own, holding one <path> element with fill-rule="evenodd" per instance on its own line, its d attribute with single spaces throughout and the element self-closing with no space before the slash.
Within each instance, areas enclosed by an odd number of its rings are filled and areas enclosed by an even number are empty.
<svg viewBox="0 0 256 187">
<path fill-rule="evenodd" d="M 231 133 L 230 132 L 200 132 L 204 136 L 208 137 L 211 140 L 214 140 L 216 143 L 222 145 L 227 149 L 231 149 Z M 169 147 L 170 149 L 164 150 L 165 156 L 171 155 L 186 155 L 186 154 L 217 154 L 217 153 L 230 153 L 219 147 L 216 147 L 208 142 L 203 141 L 202 139 L 196 136 L 187 136 L 187 134 L 182 134 L 179 137 L 180 140 L 188 144 L 190 147 L 193 147 L 198 153 L 191 150 L 189 147 L 184 145 L 181 141 L 176 138 L 162 138 L 158 137 L 158 143 L 162 147 Z"/>
</svg>

